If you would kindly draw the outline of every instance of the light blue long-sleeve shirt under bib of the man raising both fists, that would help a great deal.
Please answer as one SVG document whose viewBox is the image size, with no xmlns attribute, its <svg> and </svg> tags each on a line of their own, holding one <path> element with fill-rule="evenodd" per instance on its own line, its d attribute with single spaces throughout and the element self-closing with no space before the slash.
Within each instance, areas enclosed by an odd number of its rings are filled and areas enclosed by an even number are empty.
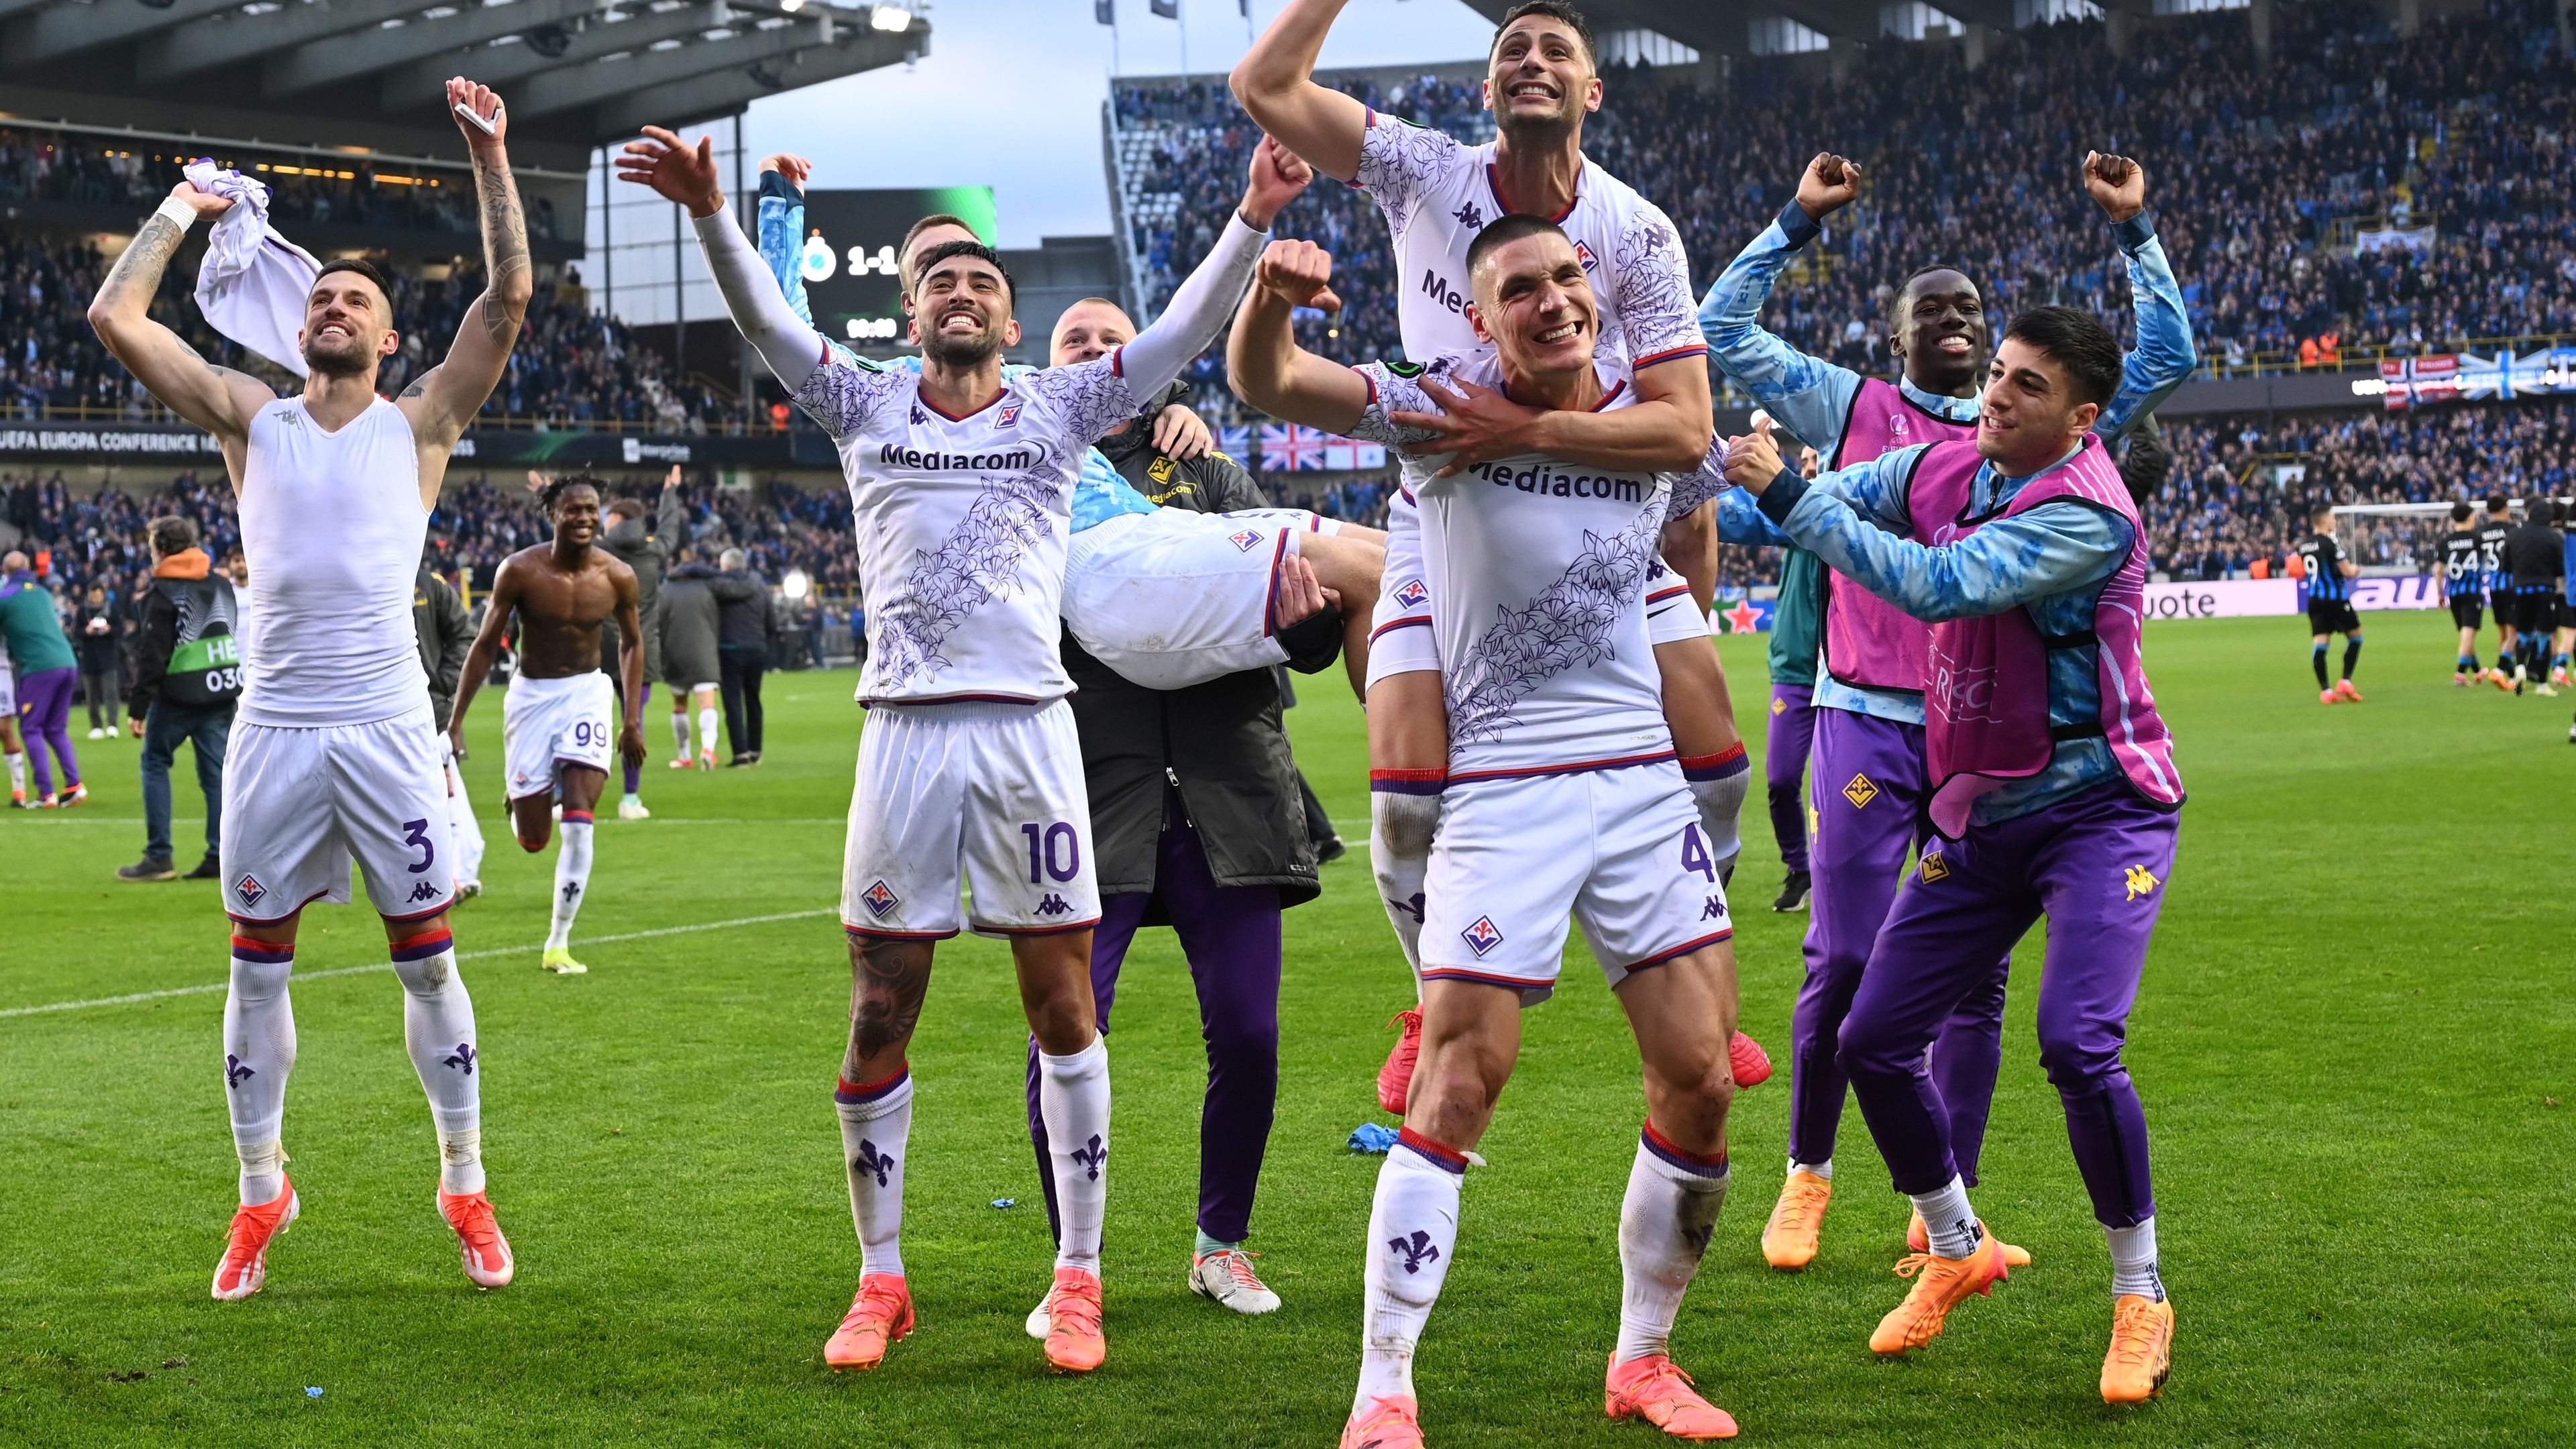
<svg viewBox="0 0 2576 1449">
<path fill-rule="evenodd" d="M 1780 217 L 1708 286 L 1708 297 L 1700 302 L 1700 333 L 1708 338 L 1710 356 L 1718 358 L 1718 371 L 1752 392 L 1783 431 L 1832 459 L 1842 446 L 1842 428 L 1852 415 L 1852 397 L 1860 392 L 1862 376 L 1801 353 L 1762 327 L 1762 299 L 1770 297 L 1772 281 L 1821 232 L 1824 227 L 1803 206 L 1795 201 L 1783 206 Z M 2117 222 L 2112 240 L 2128 258 L 2138 348 L 2123 358 L 2120 389 L 2094 420 L 2094 433 L 2105 443 L 2120 441 L 2200 364 L 2200 353 L 2192 348 L 2192 320 L 2182 307 L 2182 286 L 2174 284 L 2174 268 L 2164 260 L 2156 224 L 2141 211 Z M 1981 405 L 1976 397 L 1924 392 L 1909 376 L 1899 376 L 1896 389 L 1935 418 L 1960 425 L 1976 423 Z M 1821 668 L 1816 670 L 1816 704 L 1904 724 L 1924 719 L 1922 691 L 1862 688 L 1842 683 Z"/>
</svg>

